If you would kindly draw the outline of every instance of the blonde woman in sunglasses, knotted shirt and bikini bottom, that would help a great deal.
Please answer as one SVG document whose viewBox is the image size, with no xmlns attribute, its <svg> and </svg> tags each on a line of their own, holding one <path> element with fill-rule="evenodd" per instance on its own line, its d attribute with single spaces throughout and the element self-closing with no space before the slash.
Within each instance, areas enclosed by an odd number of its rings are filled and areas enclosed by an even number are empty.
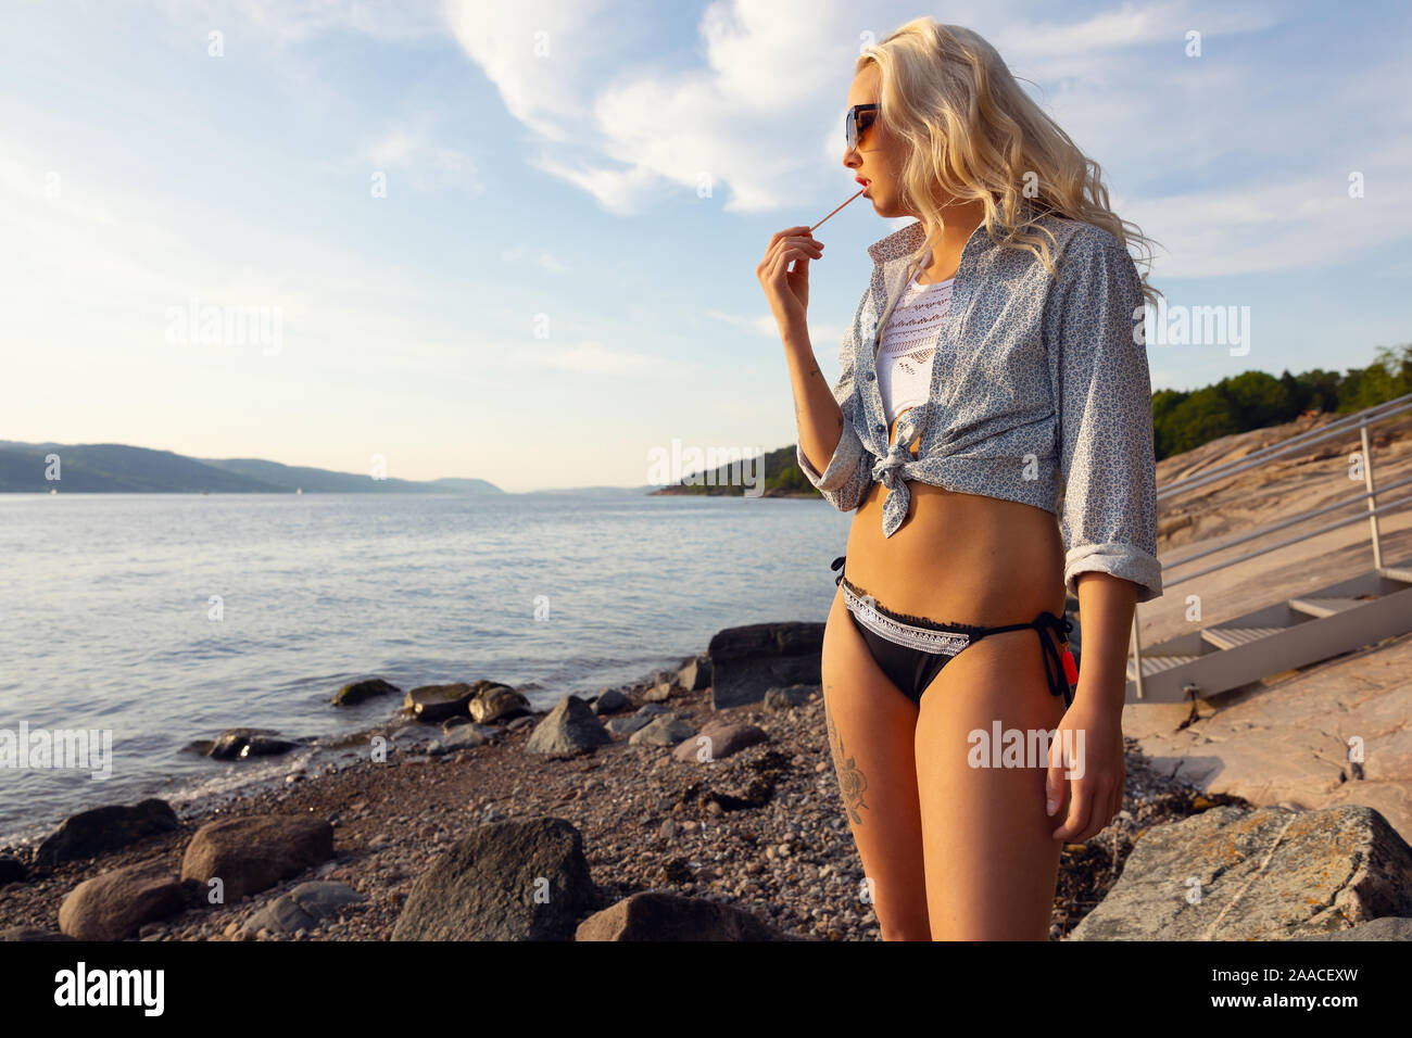
<svg viewBox="0 0 1412 1038">
<path fill-rule="evenodd" d="M 885 941 L 1043 941 L 1062 845 L 1123 805 L 1132 610 L 1162 593 L 1155 294 L 1127 251 L 1147 239 L 974 32 L 911 21 L 856 73 L 843 164 L 880 216 L 918 220 L 868 249 L 832 390 L 805 322 L 823 244 L 782 230 L 757 271 L 801 467 L 857 510 L 823 640 L 829 741 Z"/>
</svg>

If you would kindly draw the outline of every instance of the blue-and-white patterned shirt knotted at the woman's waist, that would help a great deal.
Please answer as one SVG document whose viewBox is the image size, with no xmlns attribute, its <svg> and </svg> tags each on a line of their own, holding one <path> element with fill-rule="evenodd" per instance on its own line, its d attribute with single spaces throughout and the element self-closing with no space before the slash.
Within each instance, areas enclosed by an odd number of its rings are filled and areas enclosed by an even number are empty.
<svg viewBox="0 0 1412 1038">
<path fill-rule="evenodd" d="M 907 518 L 914 479 L 1045 508 L 1059 518 L 1070 593 L 1079 573 L 1097 571 L 1135 582 L 1137 600 L 1151 602 L 1162 593 L 1162 565 L 1141 280 L 1107 230 L 1056 213 L 1034 223 L 1058 240 L 1058 278 L 979 225 L 962 250 L 931 397 L 898 419 L 891 445 L 877 350 L 925 229 L 915 220 L 868 246 L 873 277 L 833 387 L 843 432 L 822 475 L 796 446 L 799 467 L 840 511 L 882 483 L 884 537 Z"/>
</svg>

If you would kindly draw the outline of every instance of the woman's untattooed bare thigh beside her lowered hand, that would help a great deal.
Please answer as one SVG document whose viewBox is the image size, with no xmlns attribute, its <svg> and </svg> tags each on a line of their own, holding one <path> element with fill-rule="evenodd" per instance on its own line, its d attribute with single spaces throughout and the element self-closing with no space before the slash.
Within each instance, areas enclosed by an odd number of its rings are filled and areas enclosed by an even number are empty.
<svg viewBox="0 0 1412 1038">
<path fill-rule="evenodd" d="M 964 648 L 922 693 L 915 758 L 933 939 L 1049 938 L 1059 816 L 1045 815 L 1045 760 L 1029 747 L 1046 746 L 1034 736 L 1052 732 L 1063 709 L 1034 630 Z M 997 724 L 1001 739 L 1022 733 L 1018 767 L 997 767 Z"/>
</svg>

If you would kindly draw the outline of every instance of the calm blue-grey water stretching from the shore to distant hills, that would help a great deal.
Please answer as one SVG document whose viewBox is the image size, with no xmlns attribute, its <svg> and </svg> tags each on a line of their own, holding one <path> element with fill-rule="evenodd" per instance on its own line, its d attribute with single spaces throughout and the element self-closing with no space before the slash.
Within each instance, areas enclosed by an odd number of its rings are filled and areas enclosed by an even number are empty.
<svg viewBox="0 0 1412 1038">
<path fill-rule="evenodd" d="M 361 676 L 491 678 L 548 708 L 674 667 L 722 627 L 822 621 L 849 518 L 637 491 L 0 494 L 0 729 L 113 733 L 106 781 L 0 770 L 0 845 L 100 804 L 284 774 L 308 751 L 181 750 L 234 726 L 364 729 L 391 698 L 328 702 Z"/>
</svg>

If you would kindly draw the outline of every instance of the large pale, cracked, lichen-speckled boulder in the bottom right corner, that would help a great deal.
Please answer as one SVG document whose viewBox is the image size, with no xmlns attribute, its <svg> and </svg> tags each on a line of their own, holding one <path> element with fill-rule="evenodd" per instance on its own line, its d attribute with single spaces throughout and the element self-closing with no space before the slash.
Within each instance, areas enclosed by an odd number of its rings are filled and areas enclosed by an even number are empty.
<svg viewBox="0 0 1412 1038">
<path fill-rule="evenodd" d="M 1219 806 L 1142 832 L 1070 941 L 1284 941 L 1412 915 L 1412 847 L 1377 811 Z"/>
</svg>

